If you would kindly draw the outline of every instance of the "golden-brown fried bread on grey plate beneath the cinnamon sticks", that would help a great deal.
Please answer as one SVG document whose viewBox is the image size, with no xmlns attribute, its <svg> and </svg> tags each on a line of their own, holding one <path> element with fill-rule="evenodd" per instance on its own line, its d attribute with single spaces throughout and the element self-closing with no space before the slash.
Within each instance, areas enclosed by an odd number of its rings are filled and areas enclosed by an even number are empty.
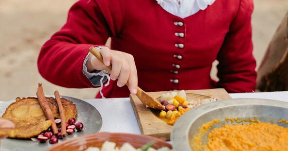
<svg viewBox="0 0 288 151">
<path fill-rule="evenodd" d="M 54 118 L 59 118 L 56 100 L 52 97 L 46 99 L 53 112 Z M 77 114 L 76 105 L 73 104 L 72 101 L 68 101 L 64 98 L 61 98 L 61 102 L 63 103 L 66 120 L 68 121 L 70 117 L 75 118 Z M 16 98 L 16 101 L 7 107 L 2 117 L 13 121 L 15 124 L 15 129 L 17 131 L 14 135 L 9 136 L 10 138 L 25 139 L 34 137 L 41 132 L 46 131 L 52 124 L 52 121 L 47 119 L 38 99 L 35 97 Z"/>
</svg>

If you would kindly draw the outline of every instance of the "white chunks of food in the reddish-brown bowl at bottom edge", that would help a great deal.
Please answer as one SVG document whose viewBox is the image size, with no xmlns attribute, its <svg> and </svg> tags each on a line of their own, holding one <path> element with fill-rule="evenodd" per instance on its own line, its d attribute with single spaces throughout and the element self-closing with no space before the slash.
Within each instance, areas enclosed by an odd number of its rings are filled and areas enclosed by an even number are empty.
<svg viewBox="0 0 288 151">
<path fill-rule="evenodd" d="M 135 149 L 131 144 L 124 143 L 121 147 L 116 147 L 116 143 L 105 141 L 101 148 L 89 147 L 86 151 L 173 151 L 167 147 L 162 147 L 158 150 L 151 148 L 153 143 L 148 143 L 140 149 Z"/>
</svg>

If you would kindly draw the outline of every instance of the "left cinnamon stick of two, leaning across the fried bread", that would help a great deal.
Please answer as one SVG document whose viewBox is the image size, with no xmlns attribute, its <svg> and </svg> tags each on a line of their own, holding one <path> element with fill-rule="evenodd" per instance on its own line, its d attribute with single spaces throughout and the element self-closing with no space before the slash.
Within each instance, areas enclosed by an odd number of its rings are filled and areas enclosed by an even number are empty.
<svg viewBox="0 0 288 151">
<path fill-rule="evenodd" d="M 56 126 L 56 123 L 55 123 L 55 120 L 54 120 L 54 117 L 53 117 L 53 113 L 48 105 L 48 102 L 45 98 L 45 95 L 44 95 L 44 92 L 43 92 L 43 87 L 42 87 L 42 84 L 38 83 L 38 88 L 37 88 L 37 92 L 36 92 L 36 95 L 37 95 L 37 98 L 38 98 L 38 101 L 39 101 L 39 104 L 40 106 L 42 107 L 46 117 L 52 121 L 52 125 L 51 125 L 51 128 L 52 128 L 52 131 L 53 131 L 53 134 L 58 134 L 58 129 L 57 129 L 57 126 Z"/>
</svg>

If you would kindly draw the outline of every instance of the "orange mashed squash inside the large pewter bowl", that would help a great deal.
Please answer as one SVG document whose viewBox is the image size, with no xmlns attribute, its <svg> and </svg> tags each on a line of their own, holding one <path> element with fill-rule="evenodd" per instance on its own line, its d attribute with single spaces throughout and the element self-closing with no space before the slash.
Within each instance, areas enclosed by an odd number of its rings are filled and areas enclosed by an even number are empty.
<svg viewBox="0 0 288 151">
<path fill-rule="evenodd" d="M 238 118 L 231 119 L 231 123 L 234 119 L 239 121 Z M 286 120 L 278 121 L 281 122 L 286 123 Z M 288 151 L 288 128 L 260 122 L 255 117 L 250 124 L 224 124 L 221 128 L 214 128 L 208 134 L 208 142 L 203 143 L 203 136 L 215 123 L 219 123 L 219 120 L 207 122 L 198 128 L 199 133 L 191 139 L 194 151 Z"/>
</svg>

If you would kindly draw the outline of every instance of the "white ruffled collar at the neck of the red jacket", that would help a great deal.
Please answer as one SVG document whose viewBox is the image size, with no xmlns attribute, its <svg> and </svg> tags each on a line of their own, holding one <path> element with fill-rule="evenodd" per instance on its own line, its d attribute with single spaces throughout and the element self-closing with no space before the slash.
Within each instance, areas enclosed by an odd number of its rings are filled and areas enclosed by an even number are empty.
<svg viewBox="0 0 288 151">
<path fill-rule="evenodd" d="M 156 0 L 167 12 L 181 18 L 196 14 L 212 5 L 215 0 Z"/>
</svg>

